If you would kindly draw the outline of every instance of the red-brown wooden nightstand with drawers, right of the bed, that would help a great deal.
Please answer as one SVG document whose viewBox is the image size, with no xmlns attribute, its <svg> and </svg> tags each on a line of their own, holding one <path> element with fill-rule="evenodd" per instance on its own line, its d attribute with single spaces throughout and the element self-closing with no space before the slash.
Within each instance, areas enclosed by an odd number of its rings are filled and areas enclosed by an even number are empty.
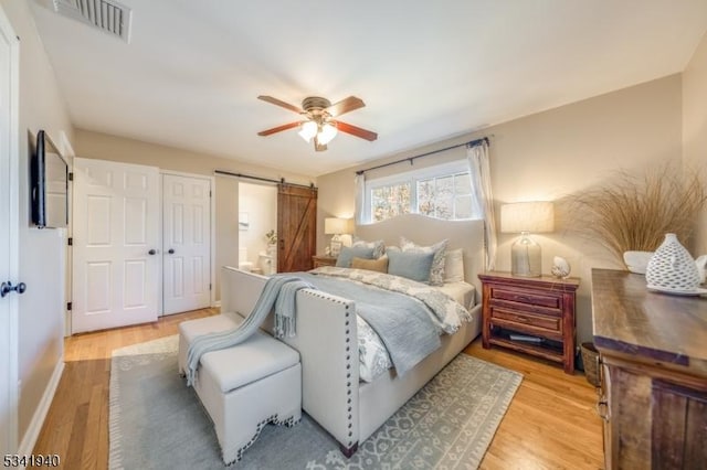
<svg viewBox="0 0 707 470">
<path fill-rule="evenodd" d="M 559 362 L 566 373 L 574 373 L 574 303 L 579 279 L 516 277 L 494 271 L 481 274 L 478 278 L 483 286 L 485 349 L 496 344 Z"/>
</svg>

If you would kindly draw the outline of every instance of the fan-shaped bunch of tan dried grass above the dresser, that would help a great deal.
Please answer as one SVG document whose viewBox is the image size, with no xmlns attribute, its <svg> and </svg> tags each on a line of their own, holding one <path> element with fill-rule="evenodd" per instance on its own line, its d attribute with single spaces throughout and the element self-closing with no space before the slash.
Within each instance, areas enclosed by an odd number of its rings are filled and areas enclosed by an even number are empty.
<svg viewBox="0 0 707 470">
<path fill-rule="evenodd" d="M 573 203 L 583 231 L 623 264 L 624 252 L 653 252 L 666 233 L 686 243 L 707 203 L 707 190 L 697 171 L 665 164 L 643 174 L 620 170 Z"/>
</svg>

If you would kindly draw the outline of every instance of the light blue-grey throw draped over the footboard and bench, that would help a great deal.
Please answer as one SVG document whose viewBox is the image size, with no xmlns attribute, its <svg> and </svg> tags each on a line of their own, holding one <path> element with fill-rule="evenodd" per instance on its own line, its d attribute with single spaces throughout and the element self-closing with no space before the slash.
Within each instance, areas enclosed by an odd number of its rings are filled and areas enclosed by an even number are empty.
<svg viewBox="0 0 707 470">
<path fill-rule="evenodd" d="M 187 350 L 187 385 L 193 385 L 201 356 L 210 351 L 234 346 L 257 331 L 267 313 L 275 307 L 275 338 L 294 337 L 296 333 L 295 303 L 300 289 L 313 289 L 312 284 L 299 277 L 272 276 L 257 298 L 253 311 L 236 328 L 193 339 Z"/>
</svg>

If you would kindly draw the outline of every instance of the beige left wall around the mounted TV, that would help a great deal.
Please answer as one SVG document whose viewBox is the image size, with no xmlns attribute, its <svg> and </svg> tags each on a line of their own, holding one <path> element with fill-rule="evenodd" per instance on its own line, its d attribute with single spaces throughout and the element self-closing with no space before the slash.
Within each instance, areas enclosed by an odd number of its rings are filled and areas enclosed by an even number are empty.
<svg viewBox="0 0 707 470">
<path fill-rule="evenodd" d="M 65 233 L 30 224 L 28 131 L 44 129 L 60 147 L 73 139 L 73 126 L 59 92 L 25 0 L 7 0 L 2 9 L 20 38 L 20 279 L 28 286 L 19 297 L 19 440 L 21 446 L 41 426 L 35 417 L 63 356 Z M 62 135 L 65 135 L 63 137 Z M 32 419 L 35 419 L 32 421 Z M 28 432 L 28 430 L 30 432 Z M 24 451 L 31 451 L 21 447 Z"/>
</svg>

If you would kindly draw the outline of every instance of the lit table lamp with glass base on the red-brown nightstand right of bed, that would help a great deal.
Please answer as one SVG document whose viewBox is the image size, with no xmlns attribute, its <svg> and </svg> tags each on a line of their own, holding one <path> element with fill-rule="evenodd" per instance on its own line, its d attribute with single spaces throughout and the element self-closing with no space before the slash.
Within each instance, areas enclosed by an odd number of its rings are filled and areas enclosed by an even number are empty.
<svg viewBox="0 0 707 470">
<path fill-rule="evenodd" d="M 551 202 L 518 202 L 500 206 L 500 232 L 519 233 L 510 247 L 510 271 L 514 276 L 539 277 L 542 274 L 540 245 L 530 232 L 555 229 L 555 209 Z"/>
</svg>

